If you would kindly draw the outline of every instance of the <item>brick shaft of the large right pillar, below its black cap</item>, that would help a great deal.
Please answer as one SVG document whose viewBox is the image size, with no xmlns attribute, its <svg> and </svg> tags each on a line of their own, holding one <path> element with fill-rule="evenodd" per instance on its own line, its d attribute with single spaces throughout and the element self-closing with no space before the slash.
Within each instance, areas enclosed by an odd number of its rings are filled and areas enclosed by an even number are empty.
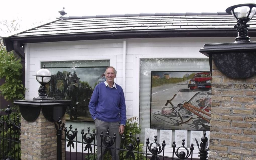
<svg viewBox="0 0 256 160">
<path fill-rule="evenodd" d="M 256 160 L 255 82 L 228 78 L 213 64 L 209 160 Z"/>
</svg>

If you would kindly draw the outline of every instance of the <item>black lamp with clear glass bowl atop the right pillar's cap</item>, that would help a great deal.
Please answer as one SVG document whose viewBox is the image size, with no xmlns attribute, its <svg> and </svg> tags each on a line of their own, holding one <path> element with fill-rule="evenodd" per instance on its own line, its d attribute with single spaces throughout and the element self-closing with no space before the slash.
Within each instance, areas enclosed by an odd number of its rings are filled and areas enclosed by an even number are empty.
<svg viewBox="0 0 256 160">
<path fill-rule="evenodd" d="M 256 4 L 238 4 L 226 9 L 228 14 L 232 14 L 237 19 L 237 25 L 234 28 L 238 31 L 238 37 L 235 42 L 250 42 L 250 37 L 248 37 L 249 22 L 256 12 Z"/>
</svg>

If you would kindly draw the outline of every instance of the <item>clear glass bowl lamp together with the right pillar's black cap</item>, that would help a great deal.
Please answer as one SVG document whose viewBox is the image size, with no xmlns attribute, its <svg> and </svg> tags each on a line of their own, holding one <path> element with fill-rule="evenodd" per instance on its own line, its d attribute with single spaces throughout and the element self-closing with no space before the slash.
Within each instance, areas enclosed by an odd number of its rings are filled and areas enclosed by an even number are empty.
<svg viewBox="0 0 256 160">
<path fill-rule="evenodd" d="M 239 4 L 228 7 L 226 12 L 237 19 L 234 28 L 238 37 L 233 43 L 205 44 L 200 52 L 212 60 L 220 72 L 230 78 L 245 79 L 256 74 L 256 42 L 248 37 L 249 22 L 256 11 L 256 4 Z"/>
</svg>

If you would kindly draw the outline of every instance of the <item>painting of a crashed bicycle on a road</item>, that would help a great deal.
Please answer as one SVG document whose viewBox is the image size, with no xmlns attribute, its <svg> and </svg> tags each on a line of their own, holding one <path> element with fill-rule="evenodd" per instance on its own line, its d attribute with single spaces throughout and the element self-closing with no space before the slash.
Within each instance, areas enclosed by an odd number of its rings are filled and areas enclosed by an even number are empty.
<svg viewBox="0 0 256 160">
<path fill-rule="evenodd" d="M 152 129 L 209 131 L 211 73 L 151 71 Z"/>
</svg>

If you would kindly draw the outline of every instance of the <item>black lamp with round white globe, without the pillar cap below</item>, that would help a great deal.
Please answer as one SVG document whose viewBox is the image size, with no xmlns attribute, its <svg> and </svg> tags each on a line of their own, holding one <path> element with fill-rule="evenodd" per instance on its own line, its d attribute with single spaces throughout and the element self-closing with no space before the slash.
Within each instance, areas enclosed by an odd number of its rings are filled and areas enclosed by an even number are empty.
<svg viewBox="0 0 256 160">
<path fill-rule="evenodd" d="M 53 99 L 48 97 L 45 91 L 45 85 L 51 80 L 51 72 L 45 68 L 45 65 L 42 69 L 37 71 L 36 73 L 36 80 L 41 84 L 40 88 L 38 89 L 39 96 L 33 99 Z"/>
</svg>

